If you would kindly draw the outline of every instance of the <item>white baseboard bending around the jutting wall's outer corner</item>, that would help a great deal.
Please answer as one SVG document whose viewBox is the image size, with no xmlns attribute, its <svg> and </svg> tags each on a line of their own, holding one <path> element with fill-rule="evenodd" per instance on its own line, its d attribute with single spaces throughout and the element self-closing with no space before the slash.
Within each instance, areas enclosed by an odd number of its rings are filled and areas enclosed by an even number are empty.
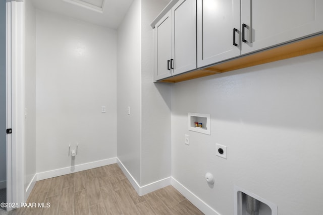
<svg viewBox="0 0 323 215">
<path fill-rule="evenodd" d="M 138 195 L 140 196 L 143 196 L 157 189 L 171 185 L 171 177 L 168 177 L 144 186 L 140 186 L 136 181 L 136 179 L 130 174 L 130 172 L 127 170 L 127 168 L 122 164 L 122 162 L 118 158 L 117 158 L 117 164 L 119 165 L 122 172 L 126 175 L 128 180 L 130 181 L 130 183 L 132 184 L 132 186 L 135 188 Z"/>
</svg>

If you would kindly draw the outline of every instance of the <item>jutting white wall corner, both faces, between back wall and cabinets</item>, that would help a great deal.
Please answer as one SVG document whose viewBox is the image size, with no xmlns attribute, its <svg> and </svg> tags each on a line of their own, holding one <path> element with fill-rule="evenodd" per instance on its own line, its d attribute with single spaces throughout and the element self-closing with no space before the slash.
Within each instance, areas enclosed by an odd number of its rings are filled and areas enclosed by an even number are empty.
<svg viewBox="0 0 323 215">
<path fill-rule="evenodd" d="M 140 186 L 171 176 L 171 88 L 153 83 L 150 27 L 168 2 L 135 0 L 118 29 L 118 158 Z"/>
</svg>

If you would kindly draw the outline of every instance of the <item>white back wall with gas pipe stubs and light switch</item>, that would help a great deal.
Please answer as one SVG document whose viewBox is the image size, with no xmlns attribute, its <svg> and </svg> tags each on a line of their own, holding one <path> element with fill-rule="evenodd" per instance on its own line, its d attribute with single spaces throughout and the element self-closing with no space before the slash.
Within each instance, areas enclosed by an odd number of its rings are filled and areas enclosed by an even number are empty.
<svg viewBox="0 0 323 215">
<path fill-rule="evenodd" d="M 37 10 L 36 38 L 36 171 L 115 158 L 116 31 Z"/>
</svg>

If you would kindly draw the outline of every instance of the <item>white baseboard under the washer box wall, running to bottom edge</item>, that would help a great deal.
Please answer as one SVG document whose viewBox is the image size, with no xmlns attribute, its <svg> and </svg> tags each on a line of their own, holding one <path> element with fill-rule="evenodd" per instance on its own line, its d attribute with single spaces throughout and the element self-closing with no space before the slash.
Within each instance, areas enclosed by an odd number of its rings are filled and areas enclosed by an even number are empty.
<svg viewBox="0 0 323 215">
<path fill-rule="evenodd" d="M 208 204 L 206 204 L 202 199 L 197 197 L 194 193 L 192 193 L 189 189 L 184 187 L 180 182 L 178 182 L 175 178 L 172 177 L 171 181 L 172 186 L 177 189 L 182 195 L 185 196 L 192 204 L 194 204 L 199 210 L 201 210 L 204 214 L 210 215 L 221 215 L 219 212 L 214 210 Z"/>
</svg>

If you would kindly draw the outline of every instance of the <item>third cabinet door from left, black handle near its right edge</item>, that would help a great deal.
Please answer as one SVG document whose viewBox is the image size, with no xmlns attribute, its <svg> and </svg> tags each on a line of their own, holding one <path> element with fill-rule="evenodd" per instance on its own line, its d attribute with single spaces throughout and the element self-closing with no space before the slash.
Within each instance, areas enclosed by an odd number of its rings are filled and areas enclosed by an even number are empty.
<svg viewBox="0 0 323 215">
<path fill-rule="evenodd" d="M 198 0 L 197 22 L 197 67 L 241 54 L 240 0 Z"/>
</svg>

